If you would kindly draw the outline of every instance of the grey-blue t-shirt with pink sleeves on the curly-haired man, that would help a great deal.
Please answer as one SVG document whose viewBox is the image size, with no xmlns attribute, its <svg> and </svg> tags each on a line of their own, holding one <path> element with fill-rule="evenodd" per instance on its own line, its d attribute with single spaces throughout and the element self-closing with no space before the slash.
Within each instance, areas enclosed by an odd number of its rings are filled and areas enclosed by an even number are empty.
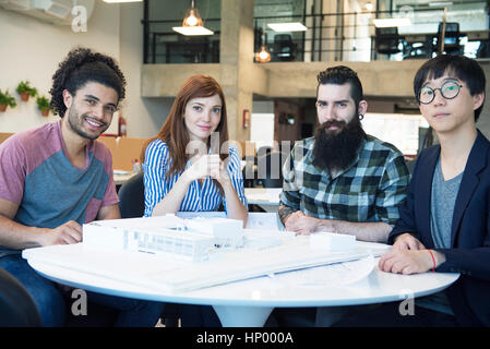
<svg viewBox="0 0 490 349">
<path fill-rule="evenodd" d="M 53 229 L 69 220 L 83 225 L 101 207 L 119 202 L 112 158 L 101 142 L 85 149 L 85 167 L 65 155 L 61 121 L 19 132 L 0 145 L 0 198 L 19 205 L 14 221 Z M 0 257 L 21 253 L 0 245 Z"/>
</svg>

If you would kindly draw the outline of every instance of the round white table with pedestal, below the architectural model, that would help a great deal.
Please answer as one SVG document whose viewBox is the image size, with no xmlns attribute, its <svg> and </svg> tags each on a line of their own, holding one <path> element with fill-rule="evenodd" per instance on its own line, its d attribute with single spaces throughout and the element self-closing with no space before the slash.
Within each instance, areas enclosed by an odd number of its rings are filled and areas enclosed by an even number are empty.
<svg viewBox="0 0 490 349">
<path fill-rule="evenodd" d="M 224 326 L 262 326 L 276 306 L 334 306 L 402 301 L 443 290 L 459 274 L 397 275 L 374 267 L 368 277 L 347 286 L 295 286 L 271 277 L 229 282 L 187 292 L 165 292 L 76 272 L 28 258 L 45 277 L 75 288 L 152 301 L 213 305 Z"/>
</svg>

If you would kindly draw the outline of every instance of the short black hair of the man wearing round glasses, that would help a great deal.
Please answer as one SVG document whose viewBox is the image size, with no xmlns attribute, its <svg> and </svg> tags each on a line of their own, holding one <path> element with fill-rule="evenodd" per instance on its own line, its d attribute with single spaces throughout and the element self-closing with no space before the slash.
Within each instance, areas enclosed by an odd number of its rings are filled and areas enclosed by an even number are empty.
<svg viewBox="0 0 490 349">
<path fill-rule="evenodd" d="M 454 77 L 464 82 L 468 86 L 471 96 L 485 94 L 485 72 L 476 60 L 461 55 L 440 55 L 428 60 L 417 71 L 414 79 L 414 92 L 417 100 L 419 101 L 420 89 L 428 79 L 435 80 L 445 73 L 454 74 Z M 475 122 L 478 120 L 482 109 L 483 104 L 475 110 Z"/>
</svg>

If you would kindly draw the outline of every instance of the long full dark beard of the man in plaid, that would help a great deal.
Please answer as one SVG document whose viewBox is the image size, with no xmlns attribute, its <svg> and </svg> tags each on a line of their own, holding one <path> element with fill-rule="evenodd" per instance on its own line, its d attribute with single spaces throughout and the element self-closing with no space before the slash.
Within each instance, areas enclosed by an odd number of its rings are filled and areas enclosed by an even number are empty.
<svg viewBox="0 0 490 349">
<path fill-rule="evenodd" d="M 335 125 L 338 130 L 328 130 Z M 313 165 L 321 169 L 343 170 L 356 158 L 366 132 L 359 118 L 326 121 L 314 131 Z"/>
</svg>

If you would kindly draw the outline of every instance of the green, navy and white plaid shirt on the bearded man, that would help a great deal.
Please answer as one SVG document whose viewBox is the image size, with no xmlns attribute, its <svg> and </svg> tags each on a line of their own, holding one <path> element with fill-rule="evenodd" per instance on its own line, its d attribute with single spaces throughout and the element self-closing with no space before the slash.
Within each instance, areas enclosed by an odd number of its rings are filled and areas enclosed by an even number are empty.
<svg viewBox="0 0 490 349">
<path fill-rule="evenodd" d="M 315 218 L 394 226 L 409 172 L 392 144 L 368 135 L 357 158 L 331 177 L 313 165 L 314 139 L 297 142 L 283 167 L 280 204 Z"/>
</svg>

